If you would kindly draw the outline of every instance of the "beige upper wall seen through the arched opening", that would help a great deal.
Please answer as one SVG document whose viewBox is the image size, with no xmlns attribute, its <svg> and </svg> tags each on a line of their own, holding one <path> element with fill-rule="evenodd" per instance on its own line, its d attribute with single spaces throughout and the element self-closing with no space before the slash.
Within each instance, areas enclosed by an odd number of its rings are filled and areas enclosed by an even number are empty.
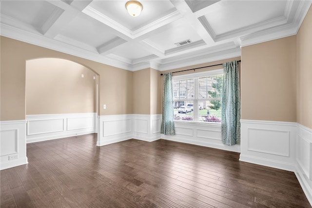
<svg viewBox="0 0 312 208">
<path fill-rule="evenodd" d="M 26 115 L 96 112 L 94 77 L 92 70 L 65 59 L 28 60 Z"/>
</svg>

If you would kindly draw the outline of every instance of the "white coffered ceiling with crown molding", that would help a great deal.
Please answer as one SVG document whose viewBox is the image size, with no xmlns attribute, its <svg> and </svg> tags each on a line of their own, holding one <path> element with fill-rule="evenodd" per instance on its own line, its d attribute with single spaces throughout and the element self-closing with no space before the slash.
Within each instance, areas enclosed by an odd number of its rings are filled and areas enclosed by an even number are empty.
<svg viewBox="0 0 312 208">
<path fill-rule="evenodd" d="M 126 70 L 163 71 L 295 35 L 312 0 L 140 0 L 138 17 L 126 2 L 1 0 L 0 34 Z"/>
</svg>

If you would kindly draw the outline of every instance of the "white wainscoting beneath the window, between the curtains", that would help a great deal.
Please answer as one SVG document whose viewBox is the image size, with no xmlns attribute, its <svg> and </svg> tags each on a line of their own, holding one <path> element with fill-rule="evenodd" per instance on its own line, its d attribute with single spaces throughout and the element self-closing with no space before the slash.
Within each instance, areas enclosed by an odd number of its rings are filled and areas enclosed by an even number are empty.
<svg viewBox="0 0 312 208">
<path fill-rule="evenodd" d="M 240 145 L 227 146 L 221 141 L 221 125 L 215 123 L 175 122 L 176 135 L 161 134 L 162 139 L 240 152 Z"/>
</svg>

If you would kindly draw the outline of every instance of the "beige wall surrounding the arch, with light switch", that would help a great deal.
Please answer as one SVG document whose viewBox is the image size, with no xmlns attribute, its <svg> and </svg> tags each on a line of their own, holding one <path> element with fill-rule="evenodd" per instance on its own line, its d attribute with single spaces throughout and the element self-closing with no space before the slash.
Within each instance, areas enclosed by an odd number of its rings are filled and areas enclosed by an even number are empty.
<svg viewBox="0 0 312 208">
<path fill-rule="evenodd" d="M 133 113 L 133 72 L 2 36 L 0 42 L 1 121 L 25 119 L 26 60 L 47 57 L 80 63 L 99 75 L 99 115 Z"/>
</svg>

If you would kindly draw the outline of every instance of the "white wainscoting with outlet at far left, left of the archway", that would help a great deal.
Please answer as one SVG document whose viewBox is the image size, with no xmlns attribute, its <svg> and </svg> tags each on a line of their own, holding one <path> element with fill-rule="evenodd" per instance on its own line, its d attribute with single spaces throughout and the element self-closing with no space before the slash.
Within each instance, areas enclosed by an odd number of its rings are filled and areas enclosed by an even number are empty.
<svg viewBox="0 0 312 208">
<path fill-rule="evenodd" d="M 9 159 L 14 156 L 14 159 Z M 27 164 L 26 121 L 0 122 L 0 170 Z"/>
</svg>

